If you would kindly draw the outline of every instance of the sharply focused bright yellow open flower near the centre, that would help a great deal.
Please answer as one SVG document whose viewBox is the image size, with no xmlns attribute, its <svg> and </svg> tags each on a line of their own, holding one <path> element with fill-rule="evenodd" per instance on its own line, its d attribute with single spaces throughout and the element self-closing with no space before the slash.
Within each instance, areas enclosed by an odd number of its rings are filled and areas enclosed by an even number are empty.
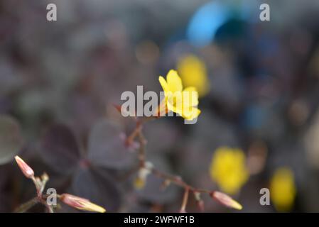
<svg viewBox="0 0 319 227">
<path fill-rule="evenodd" d="M 183 89 L 182 80 L 175 70 L 168 72 L 166 80 L 161 76 L 158 80 L 165 92 L 168 111 L 173 111 L 188 121 L 198 117 L 200 110 L 195 107 L 198 106 L 198 92 L 195 87 Z"/>
</svg>

